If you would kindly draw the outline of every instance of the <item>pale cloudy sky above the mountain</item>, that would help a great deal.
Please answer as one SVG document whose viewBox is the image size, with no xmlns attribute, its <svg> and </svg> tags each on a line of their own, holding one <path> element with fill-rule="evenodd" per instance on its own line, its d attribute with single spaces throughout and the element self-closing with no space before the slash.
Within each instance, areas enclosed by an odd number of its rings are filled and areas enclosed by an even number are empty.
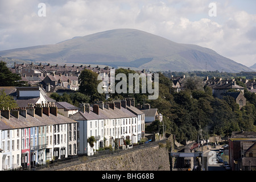
<svg viewBox="0 0 256 182">
<path fill-rule="evenodd" d="M 256 63 L 255 0 L 0 0 L 0 51 L 56 44 L 116 28 Z"/>
</svg>

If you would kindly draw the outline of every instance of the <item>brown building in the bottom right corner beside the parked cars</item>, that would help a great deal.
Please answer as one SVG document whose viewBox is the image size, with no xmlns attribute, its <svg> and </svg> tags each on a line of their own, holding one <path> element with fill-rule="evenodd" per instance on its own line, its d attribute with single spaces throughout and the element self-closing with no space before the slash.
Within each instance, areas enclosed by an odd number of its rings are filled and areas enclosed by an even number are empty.
<svg viewBox="0 0 256 182">
<path fill-rule="evenodd" d="M 256 169 L 256 133 L 234 131 L 229 138 L 229 164 L 233 171 Z"/>
</svg>

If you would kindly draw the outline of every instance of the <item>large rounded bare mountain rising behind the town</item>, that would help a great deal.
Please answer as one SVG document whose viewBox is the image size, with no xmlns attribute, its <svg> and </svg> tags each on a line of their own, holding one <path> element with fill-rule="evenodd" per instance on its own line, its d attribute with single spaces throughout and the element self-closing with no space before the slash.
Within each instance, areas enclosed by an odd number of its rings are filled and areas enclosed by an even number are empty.
<svg viewBox="0 0 256 182">
<path fill-rule="evenodd" d="M 116 29 L 57 44 L 0 51 L 0 56 L 49 63 L 98 64 L 152 71 L 251 71 L 209 48 L 180 44 L 134 29 Z"/>
</svg>

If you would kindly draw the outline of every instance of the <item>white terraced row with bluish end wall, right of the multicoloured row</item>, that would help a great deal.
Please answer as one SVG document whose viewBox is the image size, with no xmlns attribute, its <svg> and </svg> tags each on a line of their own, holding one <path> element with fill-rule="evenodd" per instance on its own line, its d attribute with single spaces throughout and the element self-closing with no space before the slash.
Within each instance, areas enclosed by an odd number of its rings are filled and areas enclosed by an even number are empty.
<svg viewBox="0 0 256 182">
<path fill-rule="evenodd" d="M 80 111 L 69 118 L 77 121 L 78 154 L 93 155 L 101 147 L 116 144 L 126 147 L 126 139 L 137 143 L 144 135 L 144 113 L 130 99 L 82 104 Z M 92 136 L 96 139 L 93 148 L 87 142 Z"/>
</svg>

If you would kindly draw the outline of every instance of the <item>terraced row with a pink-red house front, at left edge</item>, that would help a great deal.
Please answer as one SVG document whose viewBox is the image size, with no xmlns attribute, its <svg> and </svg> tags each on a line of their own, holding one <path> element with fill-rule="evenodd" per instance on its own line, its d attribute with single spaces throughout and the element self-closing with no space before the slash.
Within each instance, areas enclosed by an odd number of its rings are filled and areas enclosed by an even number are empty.
<svg viewBox="0 0 256 182">
<path fill-rule="evenodd" d="M 53 105 L 1 110 L 0 170 L 32 168 L 77 155 L 77 122 Z"/>
</svg>

